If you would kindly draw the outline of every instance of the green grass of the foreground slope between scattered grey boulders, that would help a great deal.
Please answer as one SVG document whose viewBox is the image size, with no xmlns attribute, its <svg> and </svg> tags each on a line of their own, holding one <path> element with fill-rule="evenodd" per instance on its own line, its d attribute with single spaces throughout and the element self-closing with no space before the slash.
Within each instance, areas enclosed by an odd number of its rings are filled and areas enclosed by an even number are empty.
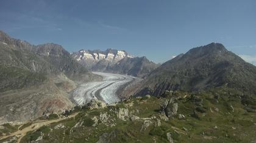
<svg viewBox="0 0 256 143">
<path fill-rule="evenodd" d="M 27 133 L 21 142 L 35 140 L 41 135 L 43 135 L 43 142 L 96 142 L 103 133 L 112 133 L 113 136 L 108 136 L 112 142 L 153 142 L 154 140 L 156 142 L 168 142 L 166 137 L 168 132 L 171 133 L 174 142 L 255 141 L 256 115 L 254 112 L 248 112 L 245 109 L 247 107 L 255 108 L 256 100 L 253 98 L 240 99 L 240 93 L 235 91 L 222 89 L 213 91 L 201 93 L 177 92 L 175 95 L 168 95 L 166 98 L 170 96 L 182 97 L 178 100 L 178 114 L 183 114 L 186 118 L 180 120 L 176 116 L 169 119 L 169 121 L 161 121 L 162 124 L 159 127 L 155 125 L 155 122 L 160 119 L 158 111 L 160 103 L 165 98 L 132 98 L 108 108 L 82 109 L 76 118 L 67 119 Z M 185 95 L 187 97 L 183 98 Z M 218 99 L 216 99 L 217 96 Z M 199 104 L 201 104 L 201 110 L 198 108 Z M 234 110 L 232 110 L 231 105 Z M 155 116 L 157 119 L 150 119 L 153 124 L 149 125 L 146 130 L 141 131 L 143 120 L 130 121 L 127 119 L 127 121 L 122 121 L 116 117 L 116 113 L 113 111 L 117 108 L 129 108 L 132 115 L 140 118 Z M 194 115 L 195 110 L 197 112 L 196 116 Z M 100 121 L 101 113 L 107 113 L 109 116 L 107 122 Z M 94 116 L 99 119 L 96 127 L 91 126 L 93 125 L 91 118 Z M 84 123 L 80 127 L 74 127 L 82 121 Z M 63 125 L 63 127 L 54 128 L 56 125 Z M 112 125 L 114 126 L 112 127 Z"/>
</svg>

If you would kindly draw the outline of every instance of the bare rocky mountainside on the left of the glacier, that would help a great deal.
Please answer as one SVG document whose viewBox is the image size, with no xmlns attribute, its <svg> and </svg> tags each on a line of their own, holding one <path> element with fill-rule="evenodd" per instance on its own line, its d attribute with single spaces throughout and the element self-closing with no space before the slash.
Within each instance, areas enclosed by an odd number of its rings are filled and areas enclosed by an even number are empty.
<svg viewBox="0 0 256 143">
<path fill-rule="evenodd" d="M 68 92 L 100 79 L 61 45 L 32 45 L 0 31 L 0 123 L 24 122 L 72 108 Z"/>
</svg>

